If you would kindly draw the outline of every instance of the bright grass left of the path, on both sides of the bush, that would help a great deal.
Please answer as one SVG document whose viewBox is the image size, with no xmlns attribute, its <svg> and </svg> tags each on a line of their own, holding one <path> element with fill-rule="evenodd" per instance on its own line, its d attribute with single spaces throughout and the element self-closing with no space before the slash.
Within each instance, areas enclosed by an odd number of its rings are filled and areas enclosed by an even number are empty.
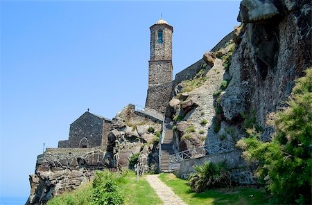
<svg viewBox="0 0 312 205">
<path fill-rule="evenodd" d="M 163 204 L 144 177 L 139 177 L 137 182 L 135 172 L 129 171 L 121 181 L 118 181 L 118 186 L 127 205 Z M 76 190 L 53 197 L 47 205 L 89 205 L 91 202 L 92 183 L 88 183 Z"/>
</svg>

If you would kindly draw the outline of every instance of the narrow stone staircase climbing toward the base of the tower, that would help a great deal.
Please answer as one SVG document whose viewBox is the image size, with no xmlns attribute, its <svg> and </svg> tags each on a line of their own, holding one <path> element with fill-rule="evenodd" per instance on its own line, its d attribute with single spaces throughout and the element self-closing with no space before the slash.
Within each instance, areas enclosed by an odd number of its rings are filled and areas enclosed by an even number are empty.
<svg viewBox="0 0 312 205">
<path fill-rule="evenodd" d="M 172 126 L 166 124 L 166 134 L 164 136 L 164 140 L 161 144 L 162 146 L 162 157 L 160 160 L 160 171 L 168 171 L 169 169 L 169 156 L 175 154 L 173 150 L 173 130 Z"/>
</svg>

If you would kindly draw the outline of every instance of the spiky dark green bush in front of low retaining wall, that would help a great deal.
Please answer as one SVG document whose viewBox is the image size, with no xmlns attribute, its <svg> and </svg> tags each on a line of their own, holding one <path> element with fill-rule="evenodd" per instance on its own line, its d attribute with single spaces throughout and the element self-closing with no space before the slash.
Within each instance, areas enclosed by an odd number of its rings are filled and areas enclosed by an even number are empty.
<svg viewBox="0 0 312 205">
<path fill-rule="evenodd" d="M 202 166 L 195 166 L 196 172 L 189 177 L 191 189 L 196 193 L 201 193 L 210 188 L 231 186 L 230 173 L 225 162 L 207 161 Z"/>
</svg>

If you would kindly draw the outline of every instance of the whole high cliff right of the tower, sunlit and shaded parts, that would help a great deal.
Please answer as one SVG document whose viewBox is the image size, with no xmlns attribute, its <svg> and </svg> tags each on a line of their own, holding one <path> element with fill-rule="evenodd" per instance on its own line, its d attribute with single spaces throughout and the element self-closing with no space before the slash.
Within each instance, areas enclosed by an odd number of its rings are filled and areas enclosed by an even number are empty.
<svg viewBox="0 0 312 205">
<path fill-rule="evenodd" d="M 179 151 L 234 146 L 248 127 L 270 140 L 268 114 L 286 106 L 295 79 L 311 66 L 310 1 L 244 0 L 238 21 L 232 40 L 206 53 L 200 71 L 173 89 L 167 113 Z"/>
</svg>

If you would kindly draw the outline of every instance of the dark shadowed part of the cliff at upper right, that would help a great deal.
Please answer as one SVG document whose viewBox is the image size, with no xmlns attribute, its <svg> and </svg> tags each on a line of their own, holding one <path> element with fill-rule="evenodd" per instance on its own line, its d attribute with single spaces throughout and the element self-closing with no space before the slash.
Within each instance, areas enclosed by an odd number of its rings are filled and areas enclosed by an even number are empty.
<svg viewBox="0 0 312 205">
<path fill-rule="evenodd" d="M 310 3 L 241 2 L 239 20 L 246 24 L 229 67 L 232 80 L 220 99 L 227 121 L 254 111 L 266 128 L 266 115 L 284 106 L 294 80 L 311 66 Z"/>
</svg>

